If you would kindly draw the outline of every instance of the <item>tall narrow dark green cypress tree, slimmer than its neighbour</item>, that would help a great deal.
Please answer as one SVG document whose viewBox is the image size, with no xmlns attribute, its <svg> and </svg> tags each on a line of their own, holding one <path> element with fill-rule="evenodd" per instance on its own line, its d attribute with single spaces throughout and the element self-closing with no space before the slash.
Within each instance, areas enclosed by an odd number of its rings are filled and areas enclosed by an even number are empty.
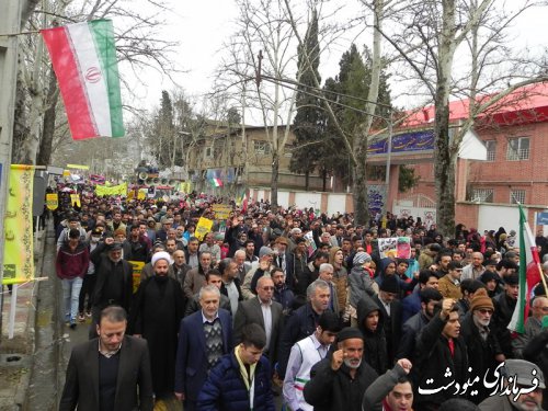
<svg viewBox="0 0 548 411">
<path fill-rule="evenodd" d="M 302 45 L 298 47 L 298 67 L 302 68 L 296 96 L 297 114 L 293 122 L 296 148 L 292 155 L 289 169 L 305 173 L 305 190 L 309 189 L 309 175 L 320 163 L 317 150 L 323 137 L 324 115 L 319 99 L 313 95 L 315 78 L 320 79 L 320 50 L 318 43 L 318 15 L 312 12 Z"/>
</svg>

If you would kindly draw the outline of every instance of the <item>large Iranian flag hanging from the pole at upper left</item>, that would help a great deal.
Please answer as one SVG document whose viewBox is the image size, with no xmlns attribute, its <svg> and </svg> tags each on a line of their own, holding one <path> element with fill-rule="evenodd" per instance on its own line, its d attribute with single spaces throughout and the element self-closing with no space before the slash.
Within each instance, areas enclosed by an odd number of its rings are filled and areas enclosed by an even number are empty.
<svg viewBox="0 0 548 411">
<path fill-rule="evenodd" d="M 110 20 L 42 30 L 75 140 L 123 137 L 114 30 Z"/>
</svg>

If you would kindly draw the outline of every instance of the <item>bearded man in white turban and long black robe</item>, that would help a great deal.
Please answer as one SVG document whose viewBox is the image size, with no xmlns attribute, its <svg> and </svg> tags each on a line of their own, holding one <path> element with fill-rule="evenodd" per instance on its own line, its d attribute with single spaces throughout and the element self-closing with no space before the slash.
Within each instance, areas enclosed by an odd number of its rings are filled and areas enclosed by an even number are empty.
<svg viewBox="0 0 548 411">
<path fill-rule="evenodd" d="M 168 276 L 170 255 L 152 255 L 155 275 L 139 285 L 132 312 L 132 331 L 148 342 L 152 386 L 157 398 L 173 392 L 176 333 L 184 313 L 184 296 L 179 282 Z"/>
</svg>

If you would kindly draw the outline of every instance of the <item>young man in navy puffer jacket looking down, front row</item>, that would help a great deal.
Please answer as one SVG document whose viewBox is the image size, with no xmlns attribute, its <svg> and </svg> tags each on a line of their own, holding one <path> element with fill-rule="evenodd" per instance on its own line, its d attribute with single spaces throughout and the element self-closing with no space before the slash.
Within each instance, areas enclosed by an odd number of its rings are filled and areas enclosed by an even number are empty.
<svg viewBox="0 0 548 411">
<path fill-rule="evenodd" d="M 274 411 L 264 330 L 246 324 L 241 343 L 212 369 L 198 395 L 201 411 Z"/>
</svg>

